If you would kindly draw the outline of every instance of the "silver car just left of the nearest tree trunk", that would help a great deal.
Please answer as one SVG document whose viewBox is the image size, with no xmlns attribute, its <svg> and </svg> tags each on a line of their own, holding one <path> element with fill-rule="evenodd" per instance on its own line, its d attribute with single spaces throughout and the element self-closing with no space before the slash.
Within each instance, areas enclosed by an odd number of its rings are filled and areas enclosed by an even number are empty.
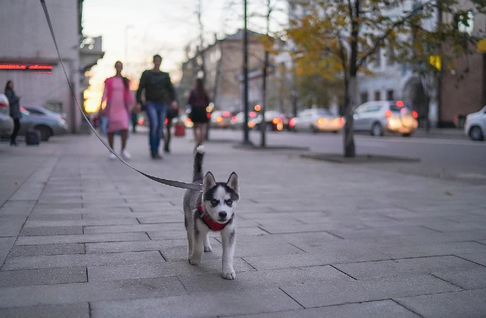
<svg viewBox="0 0 486 318">
<path fill-rule="evenodd" d="M 344 126 L 344 119 L 332 115 L 326 109 L 308 109 L 291 118 L 289 127 L 293 131 L 332 131 L 337 133 Z"/>
</svg>

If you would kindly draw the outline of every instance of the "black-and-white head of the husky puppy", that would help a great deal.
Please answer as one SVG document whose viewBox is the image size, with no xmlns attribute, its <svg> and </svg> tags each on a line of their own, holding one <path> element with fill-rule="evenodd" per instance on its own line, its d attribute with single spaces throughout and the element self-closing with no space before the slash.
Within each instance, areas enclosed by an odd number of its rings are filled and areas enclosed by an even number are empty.
<svg viewBox="0 0 486 318">
<path fill-rule="evenodd" d="M 216 182 L 211 172 L 203 180 L 203 204 L 209 216 L 218 223 L 233 217 L 239 199 L 238 176 L 233 172 L 227 182 Z"/>
</svg>

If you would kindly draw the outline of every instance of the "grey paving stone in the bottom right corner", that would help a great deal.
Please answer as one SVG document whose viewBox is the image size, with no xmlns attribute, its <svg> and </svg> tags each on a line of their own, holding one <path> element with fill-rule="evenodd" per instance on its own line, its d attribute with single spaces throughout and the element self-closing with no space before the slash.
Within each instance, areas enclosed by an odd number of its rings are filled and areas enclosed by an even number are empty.
<svg viewBox="0 0 486 318">
<path fill-rule="evenodd" d="M 396 298 L 423 317 L 486 316 L 486 289 Z"/>
</svg>

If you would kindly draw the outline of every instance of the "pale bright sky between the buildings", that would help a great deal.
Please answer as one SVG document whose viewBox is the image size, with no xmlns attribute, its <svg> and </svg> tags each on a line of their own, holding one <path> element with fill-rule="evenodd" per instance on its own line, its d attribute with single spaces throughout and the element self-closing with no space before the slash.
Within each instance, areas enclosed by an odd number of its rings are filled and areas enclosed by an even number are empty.
<svg viewBox="0 0 486 318">
<path fill-rule="evenodd" d="M 114 63 L 124 63 L 124 74 L 137 81 L 142 70 L 150 68 L 154 54 L 163 58 L 161 69 L 178 80 L 184 47 L 194 47 L 199 37 L 197 6 L 199 0 L 84 0 L 83 34 L 102 36 L 105 56 L 91 70 L 88 95 L 98 97 L 106 77 L 114 75 Z M 271 0 L 285 8 L 285 0 Z M 248 14 L 265 14 L 266 0 L 248 0 Z M 243 27 L 242 0 L 201 0 L 201 21 L 206 44 Z M 281 28 L 285 15 L 275 12 L 272 31 Z M 261 18 L 249 18 L 249 29 L 264 32 Z M 95 96 L 96 95 L 96 96 Z M 87 96 L 89 97 L 89 96 Z M 91 101 L 92 103 L 93 101 Z M 93 107 L 93 106 L 91 106 Z"/>
</svg>

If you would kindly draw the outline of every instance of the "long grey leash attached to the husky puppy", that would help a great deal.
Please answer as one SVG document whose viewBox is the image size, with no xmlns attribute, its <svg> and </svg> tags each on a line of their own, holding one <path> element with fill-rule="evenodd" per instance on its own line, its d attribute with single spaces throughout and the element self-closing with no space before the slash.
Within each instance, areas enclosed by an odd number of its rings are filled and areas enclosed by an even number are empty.
<svg viewBox="0 0 486 318">
<path fill-rule="evenodd" d="M 47 10 L 47 6 L 46 6 L 46 1 L 45 0 L 40 0 L 41 1 L 41 5 L 42 5 L 42 8 L 44 9 L 44 14 L 46 15 L 46 19 L 47 19 L 47 24 L 49 25 L 49 30 L 51 31 L 51 36 L 52 36 L 52 39 L 54 40 L 54 45 L 56 47 L 56 51 L 57 51 L 57 55 L 59 57 L 59 61 L 61 62 L 61 67 L 62 67 L 62 70 L 64 71 L 64 76 L 66 77 L 66 80 L 67 80 L 67 83 L 69 85 L 69 89 L 71 91 L 71 94 L 72 96 L 74 97 L 74 100 L 76 102 L 76 105 L 77 107 L 79 108 L 79 110 L 81 111 L 81 114 L 83 114 L 83 117 L 85 118 L 85 120 L 88 122 L 88 125 L 90 125 L 90 128 L 91 130 L 95 133 L 96 137 L 98 137 L 98 139 L 101 141 L 101 143 L 108 149 L 110 150 L 111 153 L 113 153 L 122 163 L 124 163 L 127 167 L 129 168 L 132 168 L 133 170 L 135 170 L 136 172 L 138 172 L 139 174 L 155 181 L 155 182 L 158 182 L 158 183 L 162 183 L 162 184 L 165 184 L 165 185 L 168 185 L 168 186 L 172 186 L 172 187 L 176 187 L 176 188 L 182 188 L 182 189 L 191 189 L 191 190 L 197 190 L 197 191 L 202 191 L 203 189 L 203 186 L 200 185 L 200 184 L 192 184 L 192 183 L 186 183 L 186 182 L 182 182 L 182 181 L 175 181 L 175 180 L 169 180 L 169 179 L 164 179 L 164 178 L 158 178 L 158 177 L 154 177 L 154 176 L 151 176 L 149 174 L 146 174 L 140 170 L 138 170 L 137 168 L 131 166 L 130 164 L 128 164 L 125 160 L 123 160 L 107 143 L 105 140 L 103 140 L 103 138 L 101 138 L 101 136 L 96 132 L 96 129 L 93 127 L 93 125 L 91 125 L 91 122 L 90 120 L 88 119 L 88 117 L 86 116 L 85 112 L 83 111 L 83 108 L 79 105 L 79 102 L 77 101 L 77 97 L 76 97 L 76 94 L 74 93 L 74 89 L 72 88 L 71 86 L 71 82 L 69 81 L 69 78 L 67 76 L 67 72 L 66 72 L 66 69 L 64 68 L 64 64 L 62 63 L 62 58 L 61 58 L 61 54 L 59 52 L 59 47 L 57 45 L 57 41 L 56 41 L 56 36 L 54 34 L 54 29 L 52 27 L 52 23 L 51 23 L 51 18 L 49 17 L 49 12 Z"/>
</svg>

